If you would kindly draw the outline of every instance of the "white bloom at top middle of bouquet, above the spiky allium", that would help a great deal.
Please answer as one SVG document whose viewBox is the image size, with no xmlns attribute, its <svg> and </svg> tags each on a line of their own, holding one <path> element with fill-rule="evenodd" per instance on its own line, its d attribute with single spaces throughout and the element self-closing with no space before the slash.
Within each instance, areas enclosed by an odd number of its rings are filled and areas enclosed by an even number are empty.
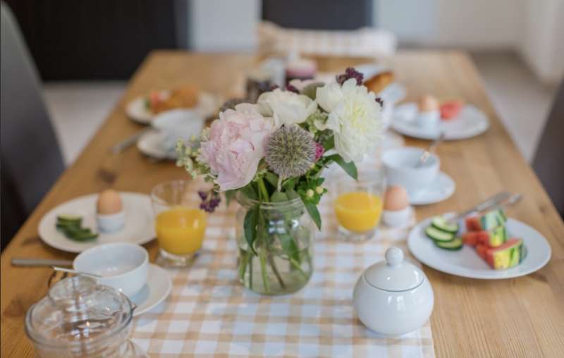
<svg viewBox="0 0 564 358">
<path fill-rule="evenodd" d="M 279 88 L 261 94 L 257 104 L 263 116 L 274 116 L 277 126 L 302 123 L 317 109 L 311 98 Z"/>
</svg>

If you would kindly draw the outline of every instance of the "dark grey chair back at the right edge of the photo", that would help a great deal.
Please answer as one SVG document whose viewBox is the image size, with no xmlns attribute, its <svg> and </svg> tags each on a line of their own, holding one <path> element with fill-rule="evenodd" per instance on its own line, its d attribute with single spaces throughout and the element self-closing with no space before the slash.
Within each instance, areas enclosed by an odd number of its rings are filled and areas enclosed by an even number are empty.
<svg viewBox="0 0 564 358">
<path fill-rule="evenodd" d="M 554 98 L 534 156 L 533 168 L 564 218 L 564 81 Z"/>
</svg>

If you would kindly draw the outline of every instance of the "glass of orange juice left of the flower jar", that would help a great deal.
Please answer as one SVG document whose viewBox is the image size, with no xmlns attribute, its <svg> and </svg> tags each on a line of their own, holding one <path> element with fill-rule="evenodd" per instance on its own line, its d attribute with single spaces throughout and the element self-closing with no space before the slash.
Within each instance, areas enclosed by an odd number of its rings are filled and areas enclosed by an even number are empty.
<svg viewBox="0 0 564 358">
<path fill-rule="evenodd" d="M 173 180 L 155 186 L 151 201 L 164 266 L 188 266 L 202 247 L 207 214 L 200 209 L 197 190 L 190 180 Z"/>
</svg>

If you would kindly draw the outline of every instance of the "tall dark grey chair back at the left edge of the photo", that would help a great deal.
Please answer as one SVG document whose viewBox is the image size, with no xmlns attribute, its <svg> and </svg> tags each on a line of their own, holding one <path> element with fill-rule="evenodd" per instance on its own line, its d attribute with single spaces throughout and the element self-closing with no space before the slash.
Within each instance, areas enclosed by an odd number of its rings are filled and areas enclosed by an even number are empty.
<svg viewBox="0 0 564 358">
<path fill-rule="evenodd" d="M 16 20 L 1 3 L 1 246 L 64 170 L 37 71 Z"/>
</svg>

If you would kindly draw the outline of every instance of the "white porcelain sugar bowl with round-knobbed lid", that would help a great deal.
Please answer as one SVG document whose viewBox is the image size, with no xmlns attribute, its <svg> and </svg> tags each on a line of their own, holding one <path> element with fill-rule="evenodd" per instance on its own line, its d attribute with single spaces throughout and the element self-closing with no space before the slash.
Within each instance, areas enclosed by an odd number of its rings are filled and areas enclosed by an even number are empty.
<svg viewBox="0 0 564 358">
<path fill-rule="evenodd" d="M 429 320 L 434 295 L 423 271 L 404 260 L 401 249 L 390 247 L 386 261 L 364 270 L 353 301 L 364 326 L 383 335 L 403 335 Z"/>
</svg>

